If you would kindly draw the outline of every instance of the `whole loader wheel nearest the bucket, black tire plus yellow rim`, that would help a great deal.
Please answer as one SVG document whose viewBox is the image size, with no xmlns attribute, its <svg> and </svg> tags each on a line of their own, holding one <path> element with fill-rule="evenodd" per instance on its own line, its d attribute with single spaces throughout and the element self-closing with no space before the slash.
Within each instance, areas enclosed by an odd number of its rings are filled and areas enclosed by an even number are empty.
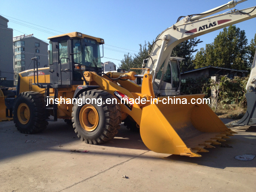
<svg viewBox="0 0 256 192">
<path fill-rule="evenodd" d="M 77 99 L 84 98 L 96 100 L 101 99 L 102 104 L 94 102 L 83 103 L 81 106 L 74 104 L 72 112 L 72 122 L 78 138 L 90 144 L 104 143 L 118 133 L 121 123 L 121 110 L 117 104 L 106 104 L 106 99 L 113 96 L 101 90 L 91 90 L 83 92 Z M 82 99 L 83 100 L 83 99 Z"/>
</svg>

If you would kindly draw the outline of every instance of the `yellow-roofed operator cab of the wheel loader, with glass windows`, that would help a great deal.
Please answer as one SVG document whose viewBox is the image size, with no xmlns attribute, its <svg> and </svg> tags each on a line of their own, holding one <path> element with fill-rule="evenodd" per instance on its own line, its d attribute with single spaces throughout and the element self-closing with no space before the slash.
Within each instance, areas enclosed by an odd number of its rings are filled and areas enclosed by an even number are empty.
<svg viewBox="0 0 256 192">
<path fill-rule="evenodd" d="M 55 88 L 83 84 L 84 71 L 102 72 L 100 45 L 104 44 L 103 39 L 78 32 L 48 39 L 50 83 Z"/>
</svg>

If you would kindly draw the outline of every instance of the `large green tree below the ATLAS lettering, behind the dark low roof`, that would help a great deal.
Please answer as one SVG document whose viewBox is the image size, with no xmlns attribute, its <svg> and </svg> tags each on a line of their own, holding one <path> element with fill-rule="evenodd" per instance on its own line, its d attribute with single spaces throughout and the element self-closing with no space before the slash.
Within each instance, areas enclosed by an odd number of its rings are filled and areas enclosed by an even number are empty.
<svg viewBox="0 0 256 192">
<path fill-rule="evenodd" d="M 200 49 L 196 54 L 195 68 L 215 66 L 246 70 L 248 68 L 247 42 L 244 30 L 236 26 L 224 28 L 212 44 L 206 44 L 205 49 Z"/>
</svg>

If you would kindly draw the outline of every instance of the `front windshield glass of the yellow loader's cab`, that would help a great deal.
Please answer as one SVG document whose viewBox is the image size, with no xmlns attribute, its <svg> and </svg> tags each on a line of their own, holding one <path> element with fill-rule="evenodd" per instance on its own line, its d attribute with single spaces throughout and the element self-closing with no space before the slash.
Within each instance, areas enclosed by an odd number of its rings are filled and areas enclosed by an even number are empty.
<svg viewBox="0 0 256 192">
<path fill-rule="evenodd" d="M 101 68 L 99 44 L 90 38 L 73 39 L 74 63 L 84 65 L 87 68 Z"/>
</svg>

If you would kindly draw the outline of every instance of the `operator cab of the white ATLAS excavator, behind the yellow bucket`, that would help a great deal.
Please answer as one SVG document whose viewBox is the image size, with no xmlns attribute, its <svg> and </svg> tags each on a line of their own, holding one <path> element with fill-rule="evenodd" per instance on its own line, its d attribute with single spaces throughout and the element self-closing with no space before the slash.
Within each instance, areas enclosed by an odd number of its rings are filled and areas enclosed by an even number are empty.
<svg viewBox="0 0 256 192">
<path fill-rule="evenodd" d="M 167 71 L 163 76 L 163 81 L 160 88 L 160 94 L 166 95 L 179 95 L 180 94 L 180 62 L 184 58 L 181 57 L 170 57 Z M 163 63 L 164 65 L 164 63 Z M 163 65 L 160 71 L 156 75 L 156 83 L 160 82 Z"/>
</svg>

